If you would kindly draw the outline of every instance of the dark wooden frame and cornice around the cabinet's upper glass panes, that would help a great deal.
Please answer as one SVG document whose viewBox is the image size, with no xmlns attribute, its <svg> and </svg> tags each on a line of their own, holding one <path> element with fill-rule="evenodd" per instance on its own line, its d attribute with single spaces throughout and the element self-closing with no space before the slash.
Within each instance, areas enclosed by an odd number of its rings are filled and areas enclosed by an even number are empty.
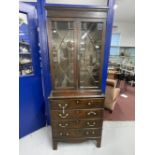
<svg viewBox="0 0 155 155">
<path fill-rule="evenodd" d="M 54 84 L 54 66 L 53 66 L 53 62 L 51 60 L 51 79 L 52 79 L 52 84 L 53 84 L 53 90 L 87 90 L 87 89 L 101 89 L 101 83 L 102 83 L 102 67 L 103 67 L 103 56 L 104 56 L 104 37 L 105 37 L 105 30 L 106 30 L 106 23 L 105 18 L 106 18 L 106 11 L 107 8 L 101 9 L 101 8 L 89 8 L 89 9 L 84 9 L 84 8 L 57 8 L 57 7 L 53 7 L 51 9 L 51 7 L 46 7 L 47 9 L 47 17 L 48 17 L 48 34 L 49 34 L 49 38 L 52 38 L 52 34 L 51 34 L 51 22 L 52 21 L 73 21 L 74 22 L 74 33 L 75 38 L 76 39 L 76 48 L 74 51 L 74 59 L 75 59 L 75 63 L 74 63 L 74 87 L 55 87 Z M 79 34 L 80 34 L 80 28 L 79 25 L 81 25 L 80 23 L 84 21 L 84 22 L 102 22 L 104 27 L 103 27 L 103 34 L 102 34 L 102 48 L 101 48 L 101 68 L 100 68 L 100 73 L 99 73 L 99 87 L 84 87 L 84 88 L 80 88 L 80 82 L 79 82 L 79 65 L 78 65 L 78 49 L 79 49 Z M 77 26 L 76 26 L 77 25 Z M 51 43 L 50 40 L 48 41 L 49 43 L 49 49 L 51 49 Z"/>
</svg>

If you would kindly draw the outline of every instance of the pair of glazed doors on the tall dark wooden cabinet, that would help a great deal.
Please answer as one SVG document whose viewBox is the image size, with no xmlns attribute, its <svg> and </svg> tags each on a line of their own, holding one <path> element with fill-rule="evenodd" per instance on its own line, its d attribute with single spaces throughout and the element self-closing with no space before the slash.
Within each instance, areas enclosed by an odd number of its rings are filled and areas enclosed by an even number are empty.
<svg viewBox="0 0 155 155">
<path fill-rule="evenodd" d="M 103 21 L 52 20 L 49 27 L 54 88 L 99 89 L 104 42 Z"/>
</svg>

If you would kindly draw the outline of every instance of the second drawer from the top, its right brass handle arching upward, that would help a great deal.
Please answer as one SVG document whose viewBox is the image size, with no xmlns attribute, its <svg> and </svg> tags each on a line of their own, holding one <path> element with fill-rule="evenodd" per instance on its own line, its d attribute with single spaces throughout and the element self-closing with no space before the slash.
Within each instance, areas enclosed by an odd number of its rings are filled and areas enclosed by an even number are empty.
<svg viewBox="0 0 155 155">
<path fill-rule="evenodd" d="M 52 110 L 52 120 L 103 118 L 103 109 Z"/>
</svg>

